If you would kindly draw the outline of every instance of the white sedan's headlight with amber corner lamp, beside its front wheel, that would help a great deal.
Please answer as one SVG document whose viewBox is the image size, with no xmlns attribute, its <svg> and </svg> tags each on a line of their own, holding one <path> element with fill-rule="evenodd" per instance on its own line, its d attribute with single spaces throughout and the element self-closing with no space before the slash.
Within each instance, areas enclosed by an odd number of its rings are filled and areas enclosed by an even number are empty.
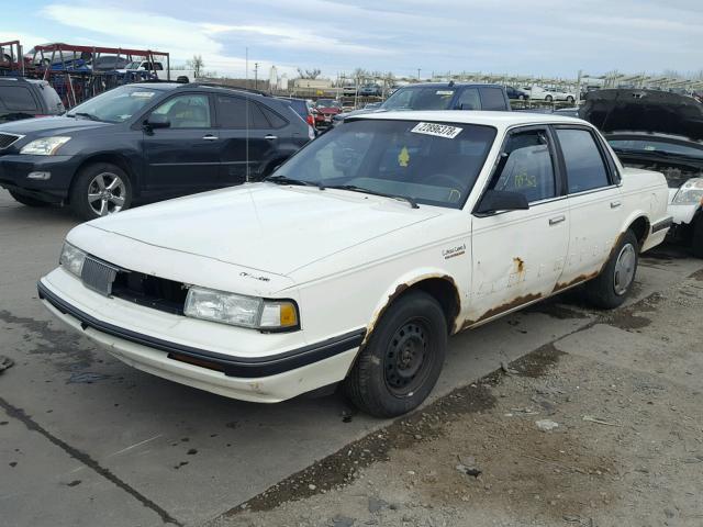
<svg viewBox="0 0 703 527">
<path fill-rule="evenodd" d="M 298 307 L 289 300 L 265 300 L 212 289 L 188 290 L 186 316 L 263 330 L 295 329 Z"/>
</svg>

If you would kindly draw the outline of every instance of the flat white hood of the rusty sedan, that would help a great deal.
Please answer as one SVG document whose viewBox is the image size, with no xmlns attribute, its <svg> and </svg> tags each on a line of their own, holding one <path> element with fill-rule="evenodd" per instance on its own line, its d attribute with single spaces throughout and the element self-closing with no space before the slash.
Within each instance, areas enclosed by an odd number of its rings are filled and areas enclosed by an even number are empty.
<svg viewBox="0 0 703 527">
<path fill-rule="evenodd" d="M 252 183 L 134 209 L 89 225 L 153 246 L 289 276 L 438 216 L 439 211 L 358 192 Z"/>
</svg>

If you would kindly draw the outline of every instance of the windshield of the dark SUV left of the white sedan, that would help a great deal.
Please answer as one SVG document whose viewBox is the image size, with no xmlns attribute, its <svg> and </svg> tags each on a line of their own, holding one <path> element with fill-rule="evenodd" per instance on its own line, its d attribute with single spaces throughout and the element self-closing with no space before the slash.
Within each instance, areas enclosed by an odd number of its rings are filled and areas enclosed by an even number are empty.
<svg viewBox="0 0 703 527">
<path fill-rule="evenodd" d="M 78 104 L 66 115 L 107 123 L 123 123 L 148 104 L 159 92 L 140 86 L 122 86 Z"/>
</svg>

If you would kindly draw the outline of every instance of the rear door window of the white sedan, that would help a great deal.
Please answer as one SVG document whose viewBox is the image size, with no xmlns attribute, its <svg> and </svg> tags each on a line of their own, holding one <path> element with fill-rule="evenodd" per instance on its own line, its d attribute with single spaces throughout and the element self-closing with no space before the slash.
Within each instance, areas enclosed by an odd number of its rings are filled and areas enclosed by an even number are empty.
<svg viewBox="0 0 703 527">
<path fill-rule="evenodd" d="M 570 194 L 611 184 L 593 134 L 582 128 L 557 128 Z"/>
</svg>

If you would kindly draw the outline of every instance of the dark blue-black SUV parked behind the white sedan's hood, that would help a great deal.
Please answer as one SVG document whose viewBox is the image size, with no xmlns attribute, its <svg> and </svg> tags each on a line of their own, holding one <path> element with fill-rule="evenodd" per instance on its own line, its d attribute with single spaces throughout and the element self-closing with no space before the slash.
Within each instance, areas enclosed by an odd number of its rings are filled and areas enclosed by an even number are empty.
<svg viewBox="0 0 703 527">
<path fill-rule="evenodd" d="M 140 82 L 58 117 L 0 125 L 0 186 L 91 220 L 267 176 L 314 137 L 289 104 L 244 89 Z"/>
</svg>

